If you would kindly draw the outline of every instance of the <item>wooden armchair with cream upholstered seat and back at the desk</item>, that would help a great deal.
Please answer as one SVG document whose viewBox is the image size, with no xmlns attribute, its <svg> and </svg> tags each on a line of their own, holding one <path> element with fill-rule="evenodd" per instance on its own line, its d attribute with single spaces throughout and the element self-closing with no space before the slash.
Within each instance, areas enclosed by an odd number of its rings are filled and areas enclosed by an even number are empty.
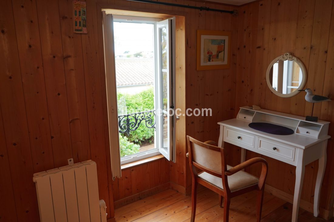
<svg viewBox="0 0 334 222">
<path fill-rule="evenodd" d="M 214 141 L 200 142 L 187 136 L 189 150 L 189 165 L 192 176 L 192 209 L 191 222 L 195 220 L 196 214 L 196 188 L 201 184 L 218 193 L 219 206 L 222 206 L 224 197 L 224 222 L 228 222 L 228 211 L 232 197 L 257 190 L 257 221 L 261 221 L 261 211 L 265 181 L 267 177 L 268 164 L 263 158 L 257 157 L 247 160 L 235 167 L 226 165 L 224 148 L 217 147 Z M 261 163 L 261 176 L 248 174 L 242 169 L 247 166 Z M 203 172 L 197 173 L 196 168 Z"/>
</svg>

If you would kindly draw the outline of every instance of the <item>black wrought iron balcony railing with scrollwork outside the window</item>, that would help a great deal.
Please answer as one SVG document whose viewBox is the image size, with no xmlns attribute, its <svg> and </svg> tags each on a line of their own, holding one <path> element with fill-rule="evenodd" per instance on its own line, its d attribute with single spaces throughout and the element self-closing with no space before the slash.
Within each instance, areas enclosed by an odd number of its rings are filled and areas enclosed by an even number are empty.
<svg viewBox="0 0 334 222">
<path fill-rule="evenodd" d="M 147 128 L 155 129 L 155 110 L 129 113 L 118 116 L 118 127 L 120 129 L 119 132 L 130 135 L 131 131 L 138 129 L 142 121 L 145 121 Z"/>
</svg>

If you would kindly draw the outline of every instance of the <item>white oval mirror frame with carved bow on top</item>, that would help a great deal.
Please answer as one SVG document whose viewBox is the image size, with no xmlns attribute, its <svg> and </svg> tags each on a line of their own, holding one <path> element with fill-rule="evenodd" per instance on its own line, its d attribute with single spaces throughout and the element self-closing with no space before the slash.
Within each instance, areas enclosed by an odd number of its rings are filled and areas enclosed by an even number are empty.
<svg viewBox="0 0 334 222">
<path fill-rule="evenodd" d="M 270 77 L 269 77 L 269 75 L 270 75 L 270 70 L 271 70 L 272 66 L 273 66 L 278 60 L 282 60 L 282 61 L 285 61 L 285 60 L 288 60 L 288 61 L 294 61 L 294 62 L 296 62 L 296 63 L 300 66 L 300 68 L 301 68 L 301 70 L 302 70 L 303 77 L 302 77 L 301 84 L 299 85 L 298 89 L 296 89 L 296 91 L 294 91 L 294 92 L 292 92 L 292 93 L 289 93 L 289 94 L 283 94 L 283 93 L 279 93 L 279 92 L 277 92 L 277 91 L 272 87 L 272 85 L 271 85 L 271 83 L 270 83 Z M 275 95 L 280 96 L 280 97 L 285 97 L 285 98 L 287 98 L 287 97 L 292 97 L 292 96 L 294 96 L 294 95 L 296 95 L 296 94 L 299 93 L 298 90 L 304 88 L 305 83 L 306 83 L 306 69 L 305 69 L 304 64 L 303 64 L 297 57 L 295 57 L 295 56 L 291 55 L 289 52 L 287 52 L 287 53 L 285 53 L 284 55 L 281 55 L 281 56 L 275 58 L 275 59 L 269 64 L 269 66 L 268 66 L 268 68 L 267 68 L 267 73 L 266 73 L 266 80 L 267 80 L 267 85 L 268 85 L 269 89 L 270 89 Z"/>
</svg>

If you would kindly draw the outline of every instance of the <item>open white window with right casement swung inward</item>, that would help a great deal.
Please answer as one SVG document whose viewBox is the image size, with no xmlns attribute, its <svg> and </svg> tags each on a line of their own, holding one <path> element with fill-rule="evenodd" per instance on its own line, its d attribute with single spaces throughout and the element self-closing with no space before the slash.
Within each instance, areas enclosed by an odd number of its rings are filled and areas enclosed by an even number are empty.
<svg viewBox="0 0 334 222">
<path fill-rule="evenodd" d="M 104 16 L 104 32 L 112 33 L 104 35 L 106 80 L 107 91 L 108 81 L 116 85 L 121 164 L 159 153 L 175 161 L 174 21 Z"/>
</svg>

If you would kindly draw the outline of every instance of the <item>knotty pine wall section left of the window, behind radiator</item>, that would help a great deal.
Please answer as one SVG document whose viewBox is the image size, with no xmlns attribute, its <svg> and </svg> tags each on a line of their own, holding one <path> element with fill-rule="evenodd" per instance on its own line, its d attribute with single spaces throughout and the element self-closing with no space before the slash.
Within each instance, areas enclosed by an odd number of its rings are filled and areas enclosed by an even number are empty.
<svg viewBox="0 0 334 222">
<path fill-rule="evenodd" d="M 113 206 L 102 41 L 96 3 L 87 7 L 80 35 L 70 0 L 0 1 L 0 221 L 38 221 L 33 173 L 69 158 L 97 162 Z"/>
</svg>

